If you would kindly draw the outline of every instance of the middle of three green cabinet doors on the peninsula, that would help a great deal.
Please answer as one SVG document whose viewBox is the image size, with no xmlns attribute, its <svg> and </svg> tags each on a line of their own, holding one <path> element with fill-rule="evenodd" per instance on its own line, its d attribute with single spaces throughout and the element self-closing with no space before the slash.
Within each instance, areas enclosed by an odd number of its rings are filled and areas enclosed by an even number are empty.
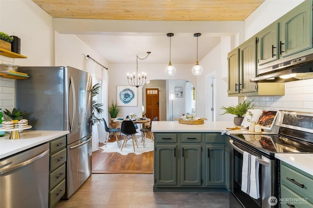
<svg viewBox="0 0 313 208">
<path fill-rule="evenodd" d="M 181 145 L 180 184 L 201 185 L 201 145 Z"/>
</svg>

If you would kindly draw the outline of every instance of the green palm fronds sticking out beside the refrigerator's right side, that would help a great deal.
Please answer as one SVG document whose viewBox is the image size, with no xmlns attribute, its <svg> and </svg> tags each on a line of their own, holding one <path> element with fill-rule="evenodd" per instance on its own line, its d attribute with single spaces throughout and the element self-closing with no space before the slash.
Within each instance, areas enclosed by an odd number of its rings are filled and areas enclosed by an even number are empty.
<svg viewBox="0 0 313 208">
<path fill-rule="evenodd" d="M 94 96 L 99 95 L 100 88 L 100 83 L 97 83 L 92 86 L 91 90 L 89 90 L 89 93 L 91 93 L 92 97 L 92 111 L 89 117 L 89 121 L 91 122 L 92 126 L 95 125 L 97 122 L 102 121 L 102 119 L 97 117 L 97 114 L 103 113 L 103 109 L 101 108 L 103 106 L 103 103 L 98 103 L 97 100 L 93 99 Z"/>
</svg>

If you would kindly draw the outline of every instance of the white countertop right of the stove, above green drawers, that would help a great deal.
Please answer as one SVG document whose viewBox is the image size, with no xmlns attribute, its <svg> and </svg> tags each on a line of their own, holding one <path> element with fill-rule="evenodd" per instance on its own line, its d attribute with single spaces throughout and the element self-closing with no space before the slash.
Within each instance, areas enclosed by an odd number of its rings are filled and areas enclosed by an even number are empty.
<svg viewBox="0 0 313 208">
<path fill-rule="evenodd" d="M 313 176 L 313 153 L 276 153 L 275 157 Z"/>
</svg>

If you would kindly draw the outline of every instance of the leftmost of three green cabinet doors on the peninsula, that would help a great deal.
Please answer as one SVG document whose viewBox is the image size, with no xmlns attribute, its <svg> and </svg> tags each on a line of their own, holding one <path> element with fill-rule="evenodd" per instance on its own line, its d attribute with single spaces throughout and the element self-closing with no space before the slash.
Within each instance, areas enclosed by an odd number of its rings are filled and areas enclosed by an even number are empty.
<svg viewBox="0 0 313 208">
<path fill-rule="evenodd" d="M 155 185 L 177 185 L 177 146 L 156 145 Z"/>
</svg>

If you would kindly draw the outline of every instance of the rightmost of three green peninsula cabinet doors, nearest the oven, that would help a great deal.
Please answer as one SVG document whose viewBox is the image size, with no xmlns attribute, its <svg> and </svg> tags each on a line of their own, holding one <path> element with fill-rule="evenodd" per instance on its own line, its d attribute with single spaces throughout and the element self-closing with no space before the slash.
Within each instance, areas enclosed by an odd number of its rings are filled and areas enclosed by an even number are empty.
<svg viewBox="0 0 313 208">
<path fill-rule="evenodd" d="M 224 186 L 224 146 L 205 146 L 206 186 Z"/>
</svg>

